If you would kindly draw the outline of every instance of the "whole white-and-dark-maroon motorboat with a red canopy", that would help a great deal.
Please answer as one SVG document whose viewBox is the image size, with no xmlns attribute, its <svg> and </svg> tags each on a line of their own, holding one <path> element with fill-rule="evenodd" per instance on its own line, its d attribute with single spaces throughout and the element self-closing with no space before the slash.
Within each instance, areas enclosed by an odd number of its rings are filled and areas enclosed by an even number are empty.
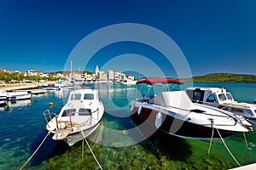
<svg viewBox="0 0 256 170">
<path fill-rule="evenodd" d="M 169 90 L 170 85 L 172 91 Z M 131 119 L 138 124 L 147 122 L 153 129 L 185 139 L 220 139 L 234 133 L 253 131 L 253 126 L 243 117 L 208 105 L 192 103 L 180 88 L 173 91 L 182 85 L 183 82 L 166 78 L 138 81 L 137 86 L 141 92 L 145 88 L 148 91 L 142 99 L 131 101 Z M 157 91 L 160 93 L 156 94 Z"/>
</svg>

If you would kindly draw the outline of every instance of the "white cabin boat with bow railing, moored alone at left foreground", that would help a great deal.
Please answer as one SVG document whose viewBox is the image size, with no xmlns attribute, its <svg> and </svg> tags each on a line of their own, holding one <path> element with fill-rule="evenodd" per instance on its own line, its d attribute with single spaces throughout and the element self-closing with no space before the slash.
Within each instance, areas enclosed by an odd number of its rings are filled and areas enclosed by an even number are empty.
<svg viewBox="0 0 256 170">
<path fill-rule="evenodd" d="M 72 146 L 96 130 L 103 114 L 104 105 L 98 91 L 90 88 L 73 90 L 58 115 L 52 117 L 47 110 L 44 118 L 47 131 L 54 134 L 52 139 L 64 140 Z"/>
</svg>

